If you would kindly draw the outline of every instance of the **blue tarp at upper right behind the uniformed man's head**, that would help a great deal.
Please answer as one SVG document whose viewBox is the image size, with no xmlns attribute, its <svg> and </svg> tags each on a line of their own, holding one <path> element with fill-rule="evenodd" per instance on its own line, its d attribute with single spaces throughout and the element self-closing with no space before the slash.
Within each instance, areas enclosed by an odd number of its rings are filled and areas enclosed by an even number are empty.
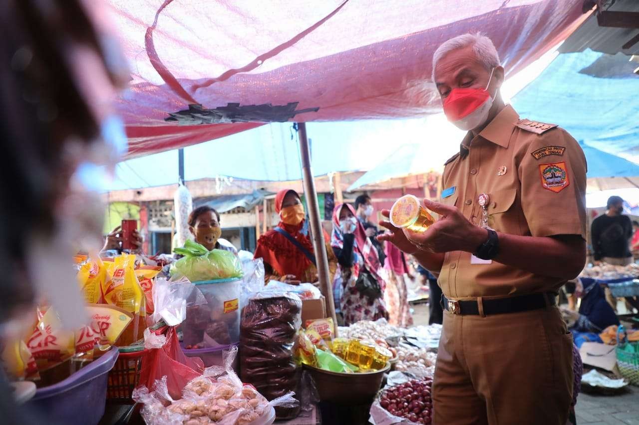
<svg viewBox="0 0 639 425">
<path fill-rule="evenodd" d="M 639 75 L 628 60 L 589 49 L 560 54 L 512 105 L 521 117 L 559 124 L 586 146 L 639 162 Z M 590 167 L 598 167 L 592 153 Z"/>
</svg>

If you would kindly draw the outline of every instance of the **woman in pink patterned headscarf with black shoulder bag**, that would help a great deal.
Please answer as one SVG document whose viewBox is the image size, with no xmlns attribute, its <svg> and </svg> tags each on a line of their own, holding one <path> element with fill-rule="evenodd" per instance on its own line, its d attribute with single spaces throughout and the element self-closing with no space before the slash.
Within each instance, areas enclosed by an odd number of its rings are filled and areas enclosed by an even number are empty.
<svg viewBox="0 0 639 425">
<path fill-rule="evenodd" d="M 383 298 L 386 284 L 380 276 L 380 258 L 370 239 L 366 237 L 364 226 L 355 217 L 355 209 L 351 205 L 335 207 L 330 244 L 339 264 L 335 283 L 343 289 L 339 305 L 344 325 L 360 320 L 388 318 Z M 363 279 L 358 278 L 364 278 L 362 275 L 366 274 L 369 274 L 367 278 L 378 283 L 378 294 L 362 293 Z"/>
</svg>

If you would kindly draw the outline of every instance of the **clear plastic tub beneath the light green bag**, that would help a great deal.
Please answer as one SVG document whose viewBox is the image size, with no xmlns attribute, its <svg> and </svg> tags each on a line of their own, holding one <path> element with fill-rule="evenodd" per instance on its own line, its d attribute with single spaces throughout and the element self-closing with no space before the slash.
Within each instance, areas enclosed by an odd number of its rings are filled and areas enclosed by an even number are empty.
<svg viewBox="0 0 639 425">
<path fill-rule="evenodd" d="M 184 347 L 216 348 L 240 341 L 240 287 L 242 279 L 194 282 L 206 304 L 187 308 L 182 324 Z"/>
</svg>

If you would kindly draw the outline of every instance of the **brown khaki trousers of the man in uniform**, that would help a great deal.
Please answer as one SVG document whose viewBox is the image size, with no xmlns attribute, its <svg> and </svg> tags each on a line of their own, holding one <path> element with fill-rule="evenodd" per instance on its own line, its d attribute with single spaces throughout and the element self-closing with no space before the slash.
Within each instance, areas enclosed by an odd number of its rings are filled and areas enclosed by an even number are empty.
<svg viewBox="0 0 639 425">
<path fill-rule="evenodd" d="M 565 425 L 573 336 L 557 307 L 493 316 L 444 311 L 433 423 Z"/>
</svg>

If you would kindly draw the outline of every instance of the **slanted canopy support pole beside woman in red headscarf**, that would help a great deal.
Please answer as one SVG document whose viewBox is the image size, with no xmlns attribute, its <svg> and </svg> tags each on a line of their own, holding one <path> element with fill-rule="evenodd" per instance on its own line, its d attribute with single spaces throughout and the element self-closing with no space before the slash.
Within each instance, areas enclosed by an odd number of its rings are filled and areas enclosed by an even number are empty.
<svg viewBox="0 0 639 425">
<path fill-rule="evenodd" d="M 300 135 L 304 197 L 306 199 L 306 205 L 309 208 L 313 250 L 315 251 L 315 262 L 318 268 L 319 290 L 321 290 L 322 295 L 324 295 L 326 299 L 328 317 L 332 317 L 333 322 L 337 324 L 335 303 L 333 301 L 333 281 L 328 271 L 328 256 L 324 242 L 324 232 L 322 232 L 321 219 L 319 218 L 318 194 L 315 190 L 315 181 L 311 172 L 311 154 L 309 152 L 309 140 L 306 135 L 306 123 L 298 123 L 297 126 Z"/>
</svg>

